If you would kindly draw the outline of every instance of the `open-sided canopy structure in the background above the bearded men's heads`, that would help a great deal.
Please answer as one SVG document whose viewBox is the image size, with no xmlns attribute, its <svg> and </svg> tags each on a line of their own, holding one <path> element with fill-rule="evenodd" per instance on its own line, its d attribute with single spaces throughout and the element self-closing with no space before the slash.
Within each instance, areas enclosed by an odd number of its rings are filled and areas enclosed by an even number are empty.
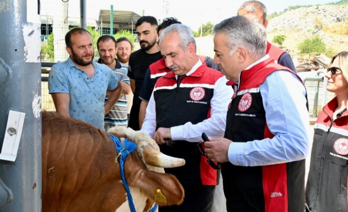
<svg viewBox="0 0 348 212">
<path fill-rule="evenodd" d="M 111 10 L 101 9 L 99 12 L 99 23 L 102 27 L 110 27 Z M 119 30 L 135 29 L 135 23 L 141 16 L 132 11 L 114 10 L 114 27 Z"/>
</svg>

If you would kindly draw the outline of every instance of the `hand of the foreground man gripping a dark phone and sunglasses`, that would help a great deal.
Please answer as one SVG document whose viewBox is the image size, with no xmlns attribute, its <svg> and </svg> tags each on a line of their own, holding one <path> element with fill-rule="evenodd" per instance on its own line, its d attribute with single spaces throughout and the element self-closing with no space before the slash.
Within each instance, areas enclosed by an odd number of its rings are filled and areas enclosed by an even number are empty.
<svg viewBox="0 0 348 212">
<path fill-rule="evenodd" d="M 209 137 L 209 141 L 204 142 L 205 153 L 214 162 L 228 162 L 228 151 L 231 143 L 232 141 L 226 138 Z"/>
</svg>

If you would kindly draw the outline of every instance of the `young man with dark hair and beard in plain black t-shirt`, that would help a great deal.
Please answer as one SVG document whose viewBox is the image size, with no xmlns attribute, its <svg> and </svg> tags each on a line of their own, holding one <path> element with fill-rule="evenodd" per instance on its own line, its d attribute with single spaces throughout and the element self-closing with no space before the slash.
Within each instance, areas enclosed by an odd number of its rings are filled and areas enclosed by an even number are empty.
<svg viewBox="0 0 348 212">
<path fill-rule="evenodd" d="M 150 64 L 162 58 L 157 45 L 157 26 L 157 20 L 153 16 L 143 16 L 135 24 L 141 49 L 130 55 L 129 66 L 131 69 L 127 74 L 134 94 L 128 127 L 134 130 L 140 129 L 139 108 L 141 100 L 139 99 L 139 92 L 146 70 Z"/>
</svg>

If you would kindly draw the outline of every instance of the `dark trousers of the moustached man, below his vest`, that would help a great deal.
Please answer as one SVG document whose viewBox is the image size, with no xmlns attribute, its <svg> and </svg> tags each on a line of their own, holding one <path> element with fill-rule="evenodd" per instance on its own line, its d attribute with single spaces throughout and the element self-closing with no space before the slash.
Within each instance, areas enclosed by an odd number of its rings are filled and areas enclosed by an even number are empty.
<svg viewBox="0 0 348 212">
<path fill-rule="evenodd" d="M 185 190 L 184 202 L 179 206 L 159 207 L 158 212 L 211 212 L 215 185 L 181 184 Z"/>
</svg>

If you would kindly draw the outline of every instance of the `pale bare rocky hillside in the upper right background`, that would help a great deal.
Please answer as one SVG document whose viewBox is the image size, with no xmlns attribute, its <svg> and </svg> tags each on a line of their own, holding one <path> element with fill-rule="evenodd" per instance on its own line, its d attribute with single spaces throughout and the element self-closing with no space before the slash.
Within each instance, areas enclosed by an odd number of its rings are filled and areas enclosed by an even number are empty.
<svg viewBox="0 0 348 212">
<path fill-rule="evenodd" d="M 288 10 L 269 21 L 267 27 L 268 40 L 271 41 L 275 35 L 284 34 L 287 38 L 283 46 L 290 54 L 297 54 L 299 53 L 297 50 L 299 43 L 306 38 L 318 35 L 329 49 L 340 52 L 348 50 L 348 30 L 345 35 L 342 32 L 337 34 L 330 28 L 337 28 L 337 23 L 345 23 L 347 21 L 347 4 L 319 5 Z"/>
</svg>

